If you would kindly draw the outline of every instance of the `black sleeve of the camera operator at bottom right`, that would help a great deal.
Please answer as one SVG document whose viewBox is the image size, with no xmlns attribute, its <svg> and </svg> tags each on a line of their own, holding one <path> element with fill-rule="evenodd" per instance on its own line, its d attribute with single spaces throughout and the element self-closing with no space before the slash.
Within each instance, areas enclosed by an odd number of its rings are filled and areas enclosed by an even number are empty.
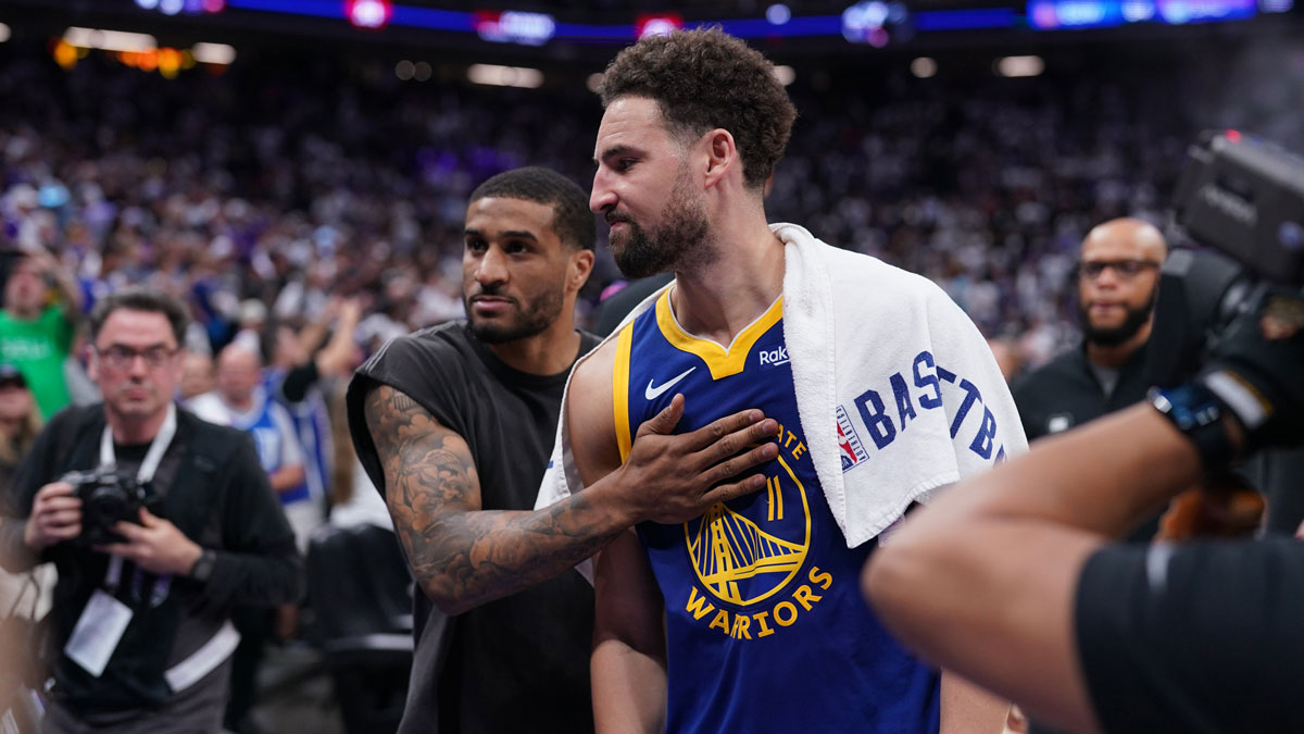
<svg viewBox="0 0 1304 734">
<path fill-rule="evenodd" d="M 1299 541 L 1111 546 L 1074 607 L 1106 731 L 1304 731 Z"/>
</svg>

